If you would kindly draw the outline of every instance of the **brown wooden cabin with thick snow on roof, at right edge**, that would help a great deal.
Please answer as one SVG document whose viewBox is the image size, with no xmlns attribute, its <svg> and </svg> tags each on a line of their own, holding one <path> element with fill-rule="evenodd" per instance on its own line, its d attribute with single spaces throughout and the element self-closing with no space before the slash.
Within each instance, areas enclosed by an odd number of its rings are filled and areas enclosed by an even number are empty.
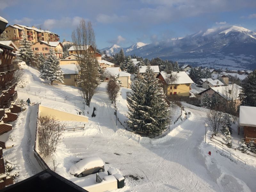
<svg viewBox="0 0 256 192">
<path fill-rule="evenodd" d="M 244 141 L 249 143 L 254 140 L 256 143 L 256 107 L 240 106 L 238 120 L 238 134 L 244 132 Z"/>
</svg>

